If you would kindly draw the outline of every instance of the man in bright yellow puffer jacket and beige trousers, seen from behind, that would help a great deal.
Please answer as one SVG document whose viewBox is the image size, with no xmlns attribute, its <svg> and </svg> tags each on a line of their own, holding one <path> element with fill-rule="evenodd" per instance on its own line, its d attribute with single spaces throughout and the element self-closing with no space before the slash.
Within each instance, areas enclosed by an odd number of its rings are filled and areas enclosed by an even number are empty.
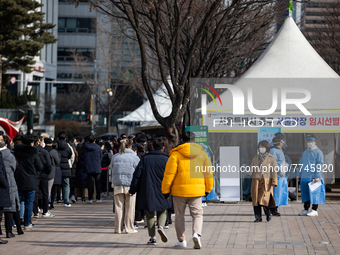
<svg viewBox="0 0 340 255">
<path fill-rule="evenodd" d="M 195 134 L 185 132 L 183 144 L 170 151 L 162 181 L 165 198 L 173 196 L 175 228 L 178 242 L 176 247 L 186 247 L 184 213 L 188 204 L 193 218 L 194 248 L 201 248 L 200 237 L 203 225 L 202 196 L 210 193 L 214 186 L 211 161 L 202 146 L 195 143 Z"/>
</svg>

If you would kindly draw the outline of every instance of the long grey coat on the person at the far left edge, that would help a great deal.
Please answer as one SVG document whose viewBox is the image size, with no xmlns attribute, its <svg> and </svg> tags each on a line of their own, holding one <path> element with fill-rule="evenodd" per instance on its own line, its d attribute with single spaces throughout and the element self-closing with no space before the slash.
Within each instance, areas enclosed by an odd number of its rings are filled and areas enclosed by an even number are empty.
<svg viewBox="0 0 340 255">
<path fill-rule="evenodd" d="M 16 212 L 17 208 L 18 210 L 20 210 L 18 187 L 14 178 L 16 160 L 14 155 L 7 148 L 1 150 L 1 153 L 6 168 L 7 181 L 9 185 L 9 195 L 12 203 L 11 207 L 4 207 L 4 212 Z"/>
</svg>

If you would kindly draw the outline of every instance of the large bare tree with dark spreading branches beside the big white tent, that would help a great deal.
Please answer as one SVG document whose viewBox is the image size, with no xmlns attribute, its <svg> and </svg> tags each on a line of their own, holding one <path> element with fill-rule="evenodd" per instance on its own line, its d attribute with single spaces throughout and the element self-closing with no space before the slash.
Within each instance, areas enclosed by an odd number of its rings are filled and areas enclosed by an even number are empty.
<svg viewBox="0 0 340 255">
<path fill-rule="evenodd" d="M 127 37 L 137 40 L 144 91 L 156 120 L 174 142 L 178 139 L 175 125 L 187 112 L 189 78 L 242 74 L 270 41 L 276 17 L 288 4 L 273 0 L 89 2 L 91 8 L 115 19 Z M 133 36 L 127 27 L 134 30 Z M 168 117 L 162 117 L 157 109 L 150 63 L 159 71 L 172 102 Z"/>
</svg>

